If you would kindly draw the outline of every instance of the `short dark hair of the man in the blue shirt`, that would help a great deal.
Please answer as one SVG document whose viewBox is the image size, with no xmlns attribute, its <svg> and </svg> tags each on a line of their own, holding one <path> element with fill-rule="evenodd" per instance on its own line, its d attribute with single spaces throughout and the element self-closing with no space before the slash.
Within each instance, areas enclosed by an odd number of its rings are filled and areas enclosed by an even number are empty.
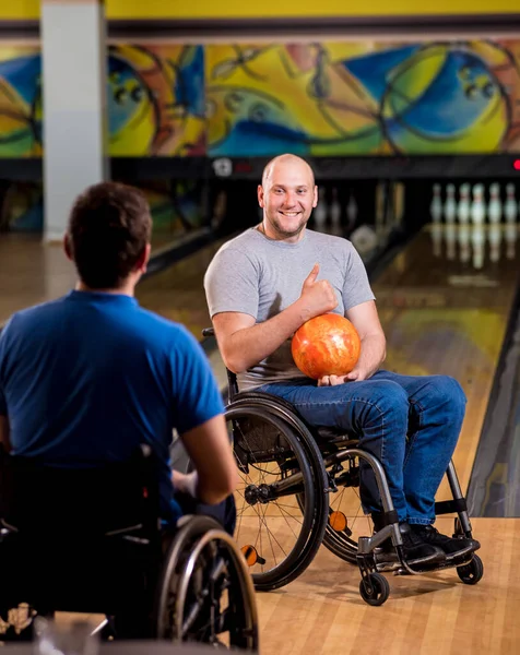
<svg viewBox="0 0 520 655">
<path fill-rule="evenodd" d="M 68 229 L 82 282 L 94 289 L 120 287 L 151 234 L 150 206 L 142 191 L 119 182 L 88 187 L 74 202 Z"/>
</svg>

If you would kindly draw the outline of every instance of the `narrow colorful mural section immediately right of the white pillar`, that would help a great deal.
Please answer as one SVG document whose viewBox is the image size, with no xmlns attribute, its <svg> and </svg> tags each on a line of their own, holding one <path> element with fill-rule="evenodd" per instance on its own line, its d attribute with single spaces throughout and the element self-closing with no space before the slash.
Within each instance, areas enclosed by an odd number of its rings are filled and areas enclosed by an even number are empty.
<svg viewBox="0 0 520 655">
<path fill-rule="evenodd" d="M 108 121 L 113 156 L 204 155 L 202 46 L 111 46 Z"/>
</svg>

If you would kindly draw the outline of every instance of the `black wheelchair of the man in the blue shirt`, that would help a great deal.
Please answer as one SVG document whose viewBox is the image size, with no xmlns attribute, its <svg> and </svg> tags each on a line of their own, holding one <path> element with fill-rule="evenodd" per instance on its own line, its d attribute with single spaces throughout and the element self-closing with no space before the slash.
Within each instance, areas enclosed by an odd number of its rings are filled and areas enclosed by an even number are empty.
<svg viewBox="0 0 520 655">
<path fill-rule="evenodd" d="M 165 528 L 154 460 L 142 446 L 68 469 L 0 452 L 0 641 L 32 640 L 36 616 L 73 611 L 105 615 L 105 639 L 258 652 L 243 553 L 210 516 Z M 22 626 L 9 619 L 19 609 Z"/>
</svg>

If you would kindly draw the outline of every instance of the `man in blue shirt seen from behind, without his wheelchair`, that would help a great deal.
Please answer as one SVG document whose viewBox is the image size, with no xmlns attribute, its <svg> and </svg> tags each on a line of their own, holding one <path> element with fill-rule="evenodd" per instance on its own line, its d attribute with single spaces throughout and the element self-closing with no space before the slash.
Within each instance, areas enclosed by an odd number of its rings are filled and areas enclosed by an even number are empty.
<svg viewBox="0 0 520 655">
<path fill-rule="evenodd" d="M 133 297 L 151 229 L 137 189 L 101 183 L 76 200 L 64 238 L 75 289 L 15 313 L 0 335 L 0 442 L 68 467 L 122 461 L 147 443 L 161 463 L 163 519 L 179 515 L 175 487 L 233 532 L 237 473 L 210 365 L 182 325 Z M 172 473 L 174 429 L 191 474 Z"/>
</svg>

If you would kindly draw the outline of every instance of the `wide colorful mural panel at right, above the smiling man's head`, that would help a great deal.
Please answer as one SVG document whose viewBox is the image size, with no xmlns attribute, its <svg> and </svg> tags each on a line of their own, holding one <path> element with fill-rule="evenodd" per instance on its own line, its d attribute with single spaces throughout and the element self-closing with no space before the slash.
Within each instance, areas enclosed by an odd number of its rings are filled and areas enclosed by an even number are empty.
<svg viewBox="0 0 520 655">
<path fill-rule="evenodd" d="M 206 48 L 211 155 L 520 150 L 520 40 Z"/>
</svg>

